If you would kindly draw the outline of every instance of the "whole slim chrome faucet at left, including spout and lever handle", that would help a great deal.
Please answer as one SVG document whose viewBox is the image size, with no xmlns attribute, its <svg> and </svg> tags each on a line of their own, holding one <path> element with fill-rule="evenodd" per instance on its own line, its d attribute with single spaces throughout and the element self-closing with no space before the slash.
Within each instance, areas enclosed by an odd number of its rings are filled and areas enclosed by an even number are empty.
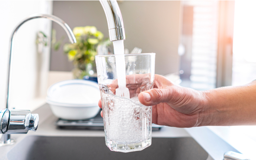
<svg viewBox="0 0 256 160">
<path fill-rule="evenodd" d="M 0 134 L 3 134 L 0 139 L 0 146 L 11 145 L 15 143 L 14 139 L 11 139 L 10 134 L 14 133 L 27 133 L 29 130 L 36 131 L 39 121 L 38 114 L 31 114 L 29 110 L 9 110 L 10 107 L 10 86 L 12 82 L 12 65 L 13 65 L 13 40 L 17 33 L 17 30 L 26 21 L 46 18 L 60 24 L 68 34 L 71 43 L 76 43 L 75 36 L 63 20 L 56 16 L 48 14 L 35 14 L 21 21 L 17 27 L 15 27 L 11 39 L 9 48 L 9 64 L 8 64 L 8 76 L 7 76 L 7 91 L 6 91 L 6 109 L 0 111 Z"/>
</svg>

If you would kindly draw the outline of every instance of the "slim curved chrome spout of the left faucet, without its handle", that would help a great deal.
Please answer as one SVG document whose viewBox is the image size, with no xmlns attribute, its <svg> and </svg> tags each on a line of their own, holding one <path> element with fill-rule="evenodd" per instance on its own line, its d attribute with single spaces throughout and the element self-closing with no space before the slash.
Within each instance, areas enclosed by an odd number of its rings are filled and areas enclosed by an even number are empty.
<svg viewBox="0 0 256 160">
<path fill-rule="evenodd" d="M 23 21 L 21 21 L 17 27 L 15 27 L 12 35 L 11 35 L 11 39 L 10 39 L 10 48 L 9 48 L 9 64 L 8 64 L 8 75 L 7 75 L 7 92 L 6 92 L 6 108 L 8 109 L 9 104 L 10 104 L 10 86 L 11 86 L 11 82 L 12 82 L 12 63 L 13 63 L 13 40 L 14 37 L 17 33 L 17 30 L 20 28 L 20 26 L 22 26 L 22 24 L 24 24 L 26 21 L 32 20 L 32 19 L 37 19 L 37 18 L 46 18 L 52 21 L 55 21 L 56 23 L 58 23 L 60 26 L 62 26 L 62 28 L 66 31 L 66 33 L 68 34 L 69 40 L 71 43 L 76 43 L 76 38 L 72 32 L 72 30 L 70 29 L 70 27 L 68 26 L 68 24 L 65 23 L 65 21 L 63 21 L 62 19 L 60 19 L 59 17 L 53 16 L 53 15 L 49 15 L 49 14 L 33 14 L 29 17 L 27 17 L 26 19 L 24 19 Z"/>
</svg>

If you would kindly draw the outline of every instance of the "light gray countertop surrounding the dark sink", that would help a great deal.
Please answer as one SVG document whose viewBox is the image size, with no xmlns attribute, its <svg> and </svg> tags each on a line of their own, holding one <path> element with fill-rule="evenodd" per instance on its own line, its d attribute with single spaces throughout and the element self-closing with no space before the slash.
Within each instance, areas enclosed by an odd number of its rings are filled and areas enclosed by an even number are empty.
<svg viewBox="0 0 256 160">
<path fill-rule="evenodd" d="M 81 136 L 81 137 L 104 137 L 103 130 L 63 130 L 55 126 L 57 117 L 52 114 L 48 104 L 39 107 L 33 113 L 39 114 L 39 126 L 36 132 L 29 131 L 27 134 L 12 134 L 18 144 L 24 137 L 29 135 L 39 136 Z M 190 129 L 163 127 L 159 131 L 152 131 L 152 137 L 193 137 L 208 153 L 207 160 L 222 160 L 225 151 L 236 151 L 220 137 L 205 127 Z M 7 160 L 7 153 L 16 145 L 0 147 L 0 160 Z M 211 158 L 213 157 L 213 158 Z"/>
</svg>

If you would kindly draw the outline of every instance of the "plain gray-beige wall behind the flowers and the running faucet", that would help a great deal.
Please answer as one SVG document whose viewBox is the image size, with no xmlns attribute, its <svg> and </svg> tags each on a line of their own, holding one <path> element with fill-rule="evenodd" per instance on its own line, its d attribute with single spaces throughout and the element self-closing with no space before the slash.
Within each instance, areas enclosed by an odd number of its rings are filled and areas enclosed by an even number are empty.
<svg viewBox="0 0 256 160">
<path fill-rule="evenodd" d="M 118 2 L 124 20 L 125 48 L 140 47 L 142 53 L 156 53 L 155 73 L 178 71 L 180 36 L 180 1 L 122 1 Z M 108 37 L 108 24 L 99 1 L 54 1 L 53 15 L 63 19 L 71 29 L 76 26 L 96 26 Z M 65 31 L 56 23 L 57 39 Z M 65 40 L 68 42 L 66 36 Z M 51 51 L 50 70 L 71 71 L 72 62 L 59 51 Z"/>
</svg>

